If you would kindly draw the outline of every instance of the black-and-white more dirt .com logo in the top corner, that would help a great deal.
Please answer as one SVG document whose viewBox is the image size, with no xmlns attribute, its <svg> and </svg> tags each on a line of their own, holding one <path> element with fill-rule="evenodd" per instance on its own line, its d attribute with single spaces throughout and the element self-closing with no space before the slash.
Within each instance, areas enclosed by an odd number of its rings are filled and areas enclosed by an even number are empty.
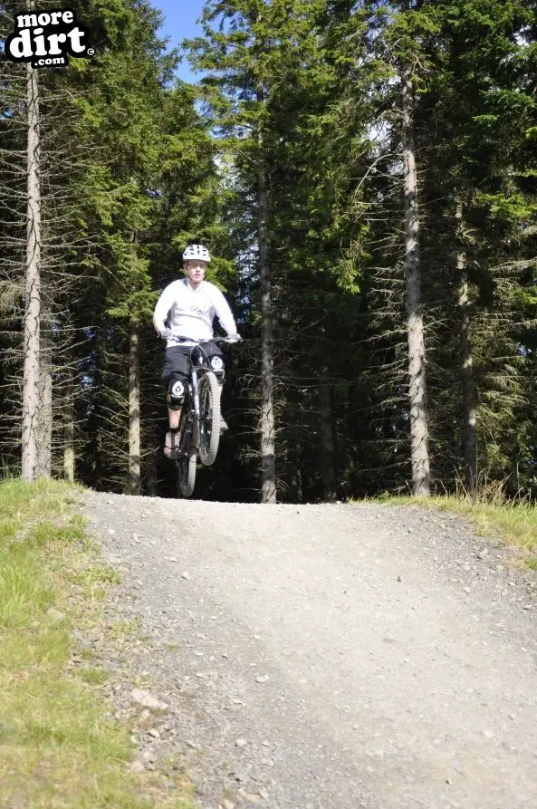
<svg viewBox="0 0 537 809">
<path fill-rule="evenodd" d="M 14 33 L 5 40 L 5 55 L 12 62 L 62 67 L 69 64 L 68 53 L 77 59 L 95 53 L 71 8 L 15 16 Z"/>
</svg>

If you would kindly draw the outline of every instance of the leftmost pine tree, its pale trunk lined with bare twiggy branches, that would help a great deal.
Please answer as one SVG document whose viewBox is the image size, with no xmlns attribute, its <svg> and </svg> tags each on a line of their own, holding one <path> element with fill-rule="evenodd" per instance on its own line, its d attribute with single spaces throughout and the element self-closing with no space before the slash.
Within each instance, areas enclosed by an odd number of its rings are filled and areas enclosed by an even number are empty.
<svg viewBox="0 0 537 809">
<path fill-rule="evenodd" d="M 0 24 L 5 34 L 13 30 L 14 10 L 20 6 L 2 6 Z M 6 224 L 9 220 L 2 239 L 5 288 L 20 291 L 21 299 L 16 303 L 25 310 L 24 337 L 20 340 L 15 320 L 18 313 L 12 310 L 15 302 L 10 294 L 8 312 L 13 312 L 14 318 L 8 315 L 5 334 L 10 333 L 13 362 L 9 370 L 5 369 L 4 385 L 9 403 L 5 424 L 12 429 L 5 431 L 2 443 L 3 451 L 12 457 L 22 454 L 23 475 L 33 480 L 50 476 L 53 470 L 53 448 L 58 438 L 55 416 L 62 411 L 54 389 L 66 345 L 65 299 L 72 289 L 69 257 L 76 239 L 71 222 L 76 218 L 73 190 L 77 181 L 72 160 L 77 146 L 63 137 L 72 115 L 72 101 L 58 86 L 54 72 L 42 71 L 38 77 L 30 64 L 8 63 L 4 57 L 2 76 L 6 91 L 4 142 L 7 146 L 11 141 L 14 147 L 5 151 L 0 180 Z M 25 257 L 21 250 L 23 228 Z M 14 440 L 13 422 L 18 419 L 23 420 L 22 453 L 21 442 Z"/>
</svg>

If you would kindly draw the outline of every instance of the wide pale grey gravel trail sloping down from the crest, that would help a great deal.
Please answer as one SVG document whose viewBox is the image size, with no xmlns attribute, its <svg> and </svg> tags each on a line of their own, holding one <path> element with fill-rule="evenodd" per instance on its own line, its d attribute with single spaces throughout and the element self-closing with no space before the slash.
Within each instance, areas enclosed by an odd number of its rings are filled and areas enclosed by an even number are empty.
<svg viewBox="0 0 537 809">
<path fill-rule="evenodd" d="M 167 706 L 136 719 L 139 767 L 179 754 L 204 809 L 537 806 L 537 576 L 465 520 L 96 493 L 82 511 L 122 575 L 108 618 L 143 624 L 129 675 L 101 648 L 117 716 L 144 678 Z"/>
</svg>

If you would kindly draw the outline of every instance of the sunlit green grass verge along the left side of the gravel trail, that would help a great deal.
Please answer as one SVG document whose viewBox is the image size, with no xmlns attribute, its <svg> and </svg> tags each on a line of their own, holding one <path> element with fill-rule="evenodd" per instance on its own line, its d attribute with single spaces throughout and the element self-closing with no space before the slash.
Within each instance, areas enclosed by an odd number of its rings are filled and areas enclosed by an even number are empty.
<svg viewBox="0 0 537 809">
<path fill-rule="evenodd" d="M 189 809 L 190 786 L 126 770 L 129 729 L 110 720 L 95 686 L 104 669 L 68 668 L 73 627 L 100 620 L 118 574 L 73 514 L 77 488 L 0 482 L 0 787 L 2 805 L 33 809 Z M 79 591 L 67 601 L 73 585 Z"/>
</svg>

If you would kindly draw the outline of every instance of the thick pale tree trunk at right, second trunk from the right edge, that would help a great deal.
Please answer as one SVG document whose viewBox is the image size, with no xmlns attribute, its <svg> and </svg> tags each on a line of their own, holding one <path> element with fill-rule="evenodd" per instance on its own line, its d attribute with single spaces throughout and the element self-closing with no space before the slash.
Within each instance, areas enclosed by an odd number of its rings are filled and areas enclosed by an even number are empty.
<svg viewBox="0 0 537 809">
<path fill-rule="evenodd" d="M 427 446 L 426 356 L 421 306 L 417 174 L 414 149 L 414 94 L 409 72 L 403 77 L 403 161 L 405 173 L 405 262 L 407 283 L 408 397 L 410 403 L 410 459 L 412 492 L 430 494 Z"/>
</svg>

